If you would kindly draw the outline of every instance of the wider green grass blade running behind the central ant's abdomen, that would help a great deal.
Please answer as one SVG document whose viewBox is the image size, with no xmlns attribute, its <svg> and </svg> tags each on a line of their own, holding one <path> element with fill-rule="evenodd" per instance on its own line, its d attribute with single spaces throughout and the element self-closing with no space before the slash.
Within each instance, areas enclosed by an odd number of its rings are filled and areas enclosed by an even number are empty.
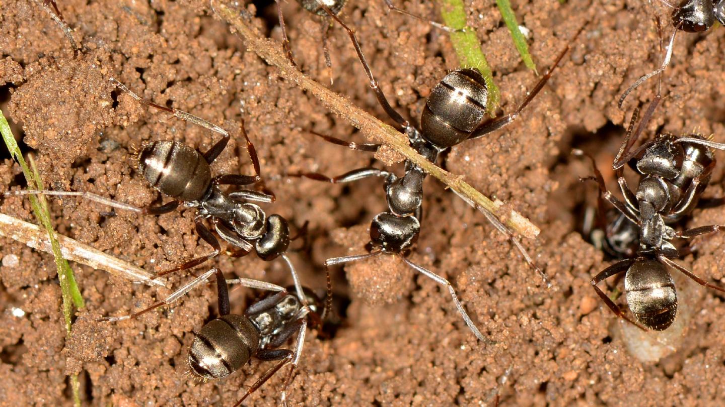
<svg viewBox="0 0 725 407">
<path fill-rule="evenodd" d="M 486 87 L 489 90 L 486 109 L 493 116 L 499 106 L 501 93 L 494 83 L 493 73 L 486 61 L 484 51 L 481 51 L 481 43 L 476 35 L 476 30 L 466 25 L 463 0 L 438 0 L 438 7 L 444 24 L 454 30 L 460 30 L 451 32 L 450 38 L 461 67 L 476 68 L 484 76 Z"/>
</svg>

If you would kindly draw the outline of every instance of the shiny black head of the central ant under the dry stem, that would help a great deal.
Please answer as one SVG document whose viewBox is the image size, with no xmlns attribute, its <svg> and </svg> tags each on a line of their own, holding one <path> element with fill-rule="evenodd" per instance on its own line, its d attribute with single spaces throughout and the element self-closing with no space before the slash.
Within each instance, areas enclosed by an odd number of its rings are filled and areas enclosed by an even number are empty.
<svg viewBox="0 0 725 407">
<path fill-rule="evenodd" d="M 398 217 L 382 212 L 370 224 L 370 243 L 383 251 L 401 253 L 418 241 L 421 222 L 416 217 Z"/>
</svg>

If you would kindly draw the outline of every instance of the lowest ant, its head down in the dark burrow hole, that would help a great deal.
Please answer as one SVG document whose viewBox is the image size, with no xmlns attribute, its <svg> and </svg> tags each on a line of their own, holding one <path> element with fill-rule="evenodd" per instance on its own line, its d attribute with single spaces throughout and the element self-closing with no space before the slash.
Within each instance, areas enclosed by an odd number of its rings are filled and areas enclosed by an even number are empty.
<svg viewBox="0 0 725 407">
<path fill-rule="evenodd" d="M 219 316 L 204 324 L 198 332 L 194 332 L 194 342 L 188 350 L 188 373 L 206 382 L 227 377 L 253 357 L 261 361 L 278 361 L 247 389 L 247 393 L 234 404 L 236 407 L 283 366 L 291 364 L 281 391 L 282 404 L 286 405 L 286 389 L 302 355 L 307 324 L 309 322 L 313 327 L 321 327 L 331 306 L 332 288 L 329 274 L 324 309 L 323 301 L 308 288 L 302 287 L 301 290 L 294 286 L 283 288 L 269 282 L 244 278 L 225 280 L 224 274 L 214 268 L 142 311 L 124 316 L 104 317 L 99 321 L 117 322 L 135 319 L 160 306 L 170 305 L 192 288 L 207 281 L 212 274 L 216 276 Z M 252 303 L 243 315 L 231 314 L 228 283 L 274 293 Z M 295 332 L 297 332 L 295 350 L 280 349 Z"/>
</svg>

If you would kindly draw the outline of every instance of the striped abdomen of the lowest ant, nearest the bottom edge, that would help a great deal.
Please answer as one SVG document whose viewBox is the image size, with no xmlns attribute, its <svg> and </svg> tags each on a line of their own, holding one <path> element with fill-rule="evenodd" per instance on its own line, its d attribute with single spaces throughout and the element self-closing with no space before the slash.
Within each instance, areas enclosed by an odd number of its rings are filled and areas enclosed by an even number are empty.
<svg viewBox="0 0 725 407">
<path fill-rule="evenodd" d="M 234 314 L 212 319 L 194 335 L 188 366 L 192 374 L 204 379 L 228 376 L 247 363 L 260 344 L 260 334 L 252 322 Z"/>
</svg>

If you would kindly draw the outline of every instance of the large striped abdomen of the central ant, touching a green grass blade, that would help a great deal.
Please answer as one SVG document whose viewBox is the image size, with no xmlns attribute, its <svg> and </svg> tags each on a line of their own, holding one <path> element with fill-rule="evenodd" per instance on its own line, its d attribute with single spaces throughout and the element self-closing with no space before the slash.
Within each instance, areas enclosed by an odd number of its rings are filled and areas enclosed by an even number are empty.
<svg viewBox="0 0 725 407">
<path fill-rule="evenodd" d="M 421 117 L 423 138 L 441 149 L 462 142 L 484 119 L 488 96 L 479 71 L 463 68 L 450 72 L 426 99 Z"/>
</svg>

